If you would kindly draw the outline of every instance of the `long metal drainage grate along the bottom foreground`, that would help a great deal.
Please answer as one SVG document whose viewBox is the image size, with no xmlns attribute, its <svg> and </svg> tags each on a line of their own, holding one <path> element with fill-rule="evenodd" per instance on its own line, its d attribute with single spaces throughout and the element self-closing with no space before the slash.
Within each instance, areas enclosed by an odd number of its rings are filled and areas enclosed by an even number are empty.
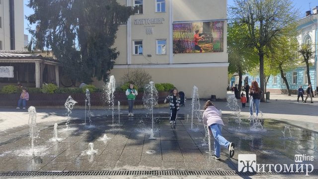
<svg viewBox="0 0 318 179">
<path fill-rule="evenodd" d="M 31 176 L 263 176 L 263 175 L 306 175 L 306 173 L 238 172 L 238 171 L 65 171 L 65 172 L 0 172 L 0 177 Z M 309 173 L 318 175 L 318 169 Z"/>
</svg>

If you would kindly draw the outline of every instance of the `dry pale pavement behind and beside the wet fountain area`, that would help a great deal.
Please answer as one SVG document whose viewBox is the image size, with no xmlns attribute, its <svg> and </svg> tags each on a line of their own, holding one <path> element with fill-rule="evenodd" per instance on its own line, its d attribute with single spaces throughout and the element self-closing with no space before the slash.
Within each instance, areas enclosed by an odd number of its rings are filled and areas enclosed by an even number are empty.
<svg viewBox="0 0 318 179">
<path fill-rule="evenodd" d="M 234 95 L 231 92 L 228 95 Z M 239 100 L 238 100 L 239 101 Z M 260 111 L 263 113 L 263 118 L 276 119 L 285 121 L 293 125 L 297 125 L 306 129 L 318 131 L 318 97 L 313 98 L 314 103 L 298 103 L 297 95 L 270 94 L 270 100 L 260 103 Z M 201 108 L 205 101 L 201 100 Z M 227 102 L 215 101 L 217 108 L 223 113 L 233 113 L 226 106 Z M 239 106 L 241 106 L 239 102 Z M 117 106 L 115 106 L 117 107 Z M 106 108 L 106 106 L 105 106 Z M 66 110 L 63 108 L 40 108 L 36 107 L 37 122 L 54 125 L 55 122 L 63 122 L 67 119 Z M 75 119 L 84 118 L 84 109 L 73 109 L 71 117 Z M 109 109 L 91 109 L 92 116 L 111 115 Z M 128 109 L 122 109 L 121 115 L 127 115 Z M 117 109 L 114 110 L 115 115 L 118 115 Z M 134 113 L 147 113 L 146 109 L 135 109 Z M 170 113 L 167 107 L 155 108 L 154 113 Z M 191 100 L 186 100 L 185 106 L 181 107 L 178 114 L 189 114 L 191 118 Z M 249 103 L 245 108 L 241 108 L 242 118 L 249 115 Z M 18 110 L 15 108 L 0 108 L 0 133 L 9 129 L 27 125 L 29 114 L 27 110 Z M 88 118 L 86 119 L 88 120 Z"/>
</svg>

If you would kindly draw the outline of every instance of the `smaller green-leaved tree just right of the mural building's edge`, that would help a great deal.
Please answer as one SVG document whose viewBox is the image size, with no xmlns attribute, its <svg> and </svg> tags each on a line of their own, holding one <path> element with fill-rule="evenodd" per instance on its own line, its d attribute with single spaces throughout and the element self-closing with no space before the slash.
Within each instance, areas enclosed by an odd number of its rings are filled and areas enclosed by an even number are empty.
<svg viewBox="0 0 318 179">
<path fill-rule="evenodd" d="M 242 74 L 257 65 L 254 48 L 245 48 L 244 40 L 247 35 L 247 26 L 240 26 L 237 22 L 228 23 L 228 53 L 229 73 L 239 74 L 239 93 L 242 87 Z"/>
</svg>

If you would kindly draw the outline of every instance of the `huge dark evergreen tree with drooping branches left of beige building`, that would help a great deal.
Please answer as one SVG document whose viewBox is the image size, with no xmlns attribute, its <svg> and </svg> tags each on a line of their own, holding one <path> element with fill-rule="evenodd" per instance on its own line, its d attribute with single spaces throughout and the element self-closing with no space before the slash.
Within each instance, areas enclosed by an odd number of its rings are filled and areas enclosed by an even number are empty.
<svg viewBox="0 0 318 179">
<path fill-rule="evenodd" d="M 119 52 L 113 47 L 116 32 L 132 7 L 116 0 L 29 0 L 34 14 L 27 16 L 36 30 L 29 32 L 40 50 L 52 50 L 64 74 L 74 80 L 106 80 Z"/>
</svg>

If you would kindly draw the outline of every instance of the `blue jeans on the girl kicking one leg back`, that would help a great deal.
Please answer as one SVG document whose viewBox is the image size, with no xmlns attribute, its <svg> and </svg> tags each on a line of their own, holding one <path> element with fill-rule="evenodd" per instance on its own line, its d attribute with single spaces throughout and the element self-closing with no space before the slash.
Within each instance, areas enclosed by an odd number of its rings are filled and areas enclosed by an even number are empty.
<svg viewBox="0 0 318 179">
<path fill-rule="evenodd" d="M 212 124 L 210 125 L 212 134 L 214 136 L 214 154 L 217 157 L 221 156 L 221 146 L 228 148 L 230 142 L 226 140 L 222 134 L 222 125 L 221 124 Z"/>
</svg>

